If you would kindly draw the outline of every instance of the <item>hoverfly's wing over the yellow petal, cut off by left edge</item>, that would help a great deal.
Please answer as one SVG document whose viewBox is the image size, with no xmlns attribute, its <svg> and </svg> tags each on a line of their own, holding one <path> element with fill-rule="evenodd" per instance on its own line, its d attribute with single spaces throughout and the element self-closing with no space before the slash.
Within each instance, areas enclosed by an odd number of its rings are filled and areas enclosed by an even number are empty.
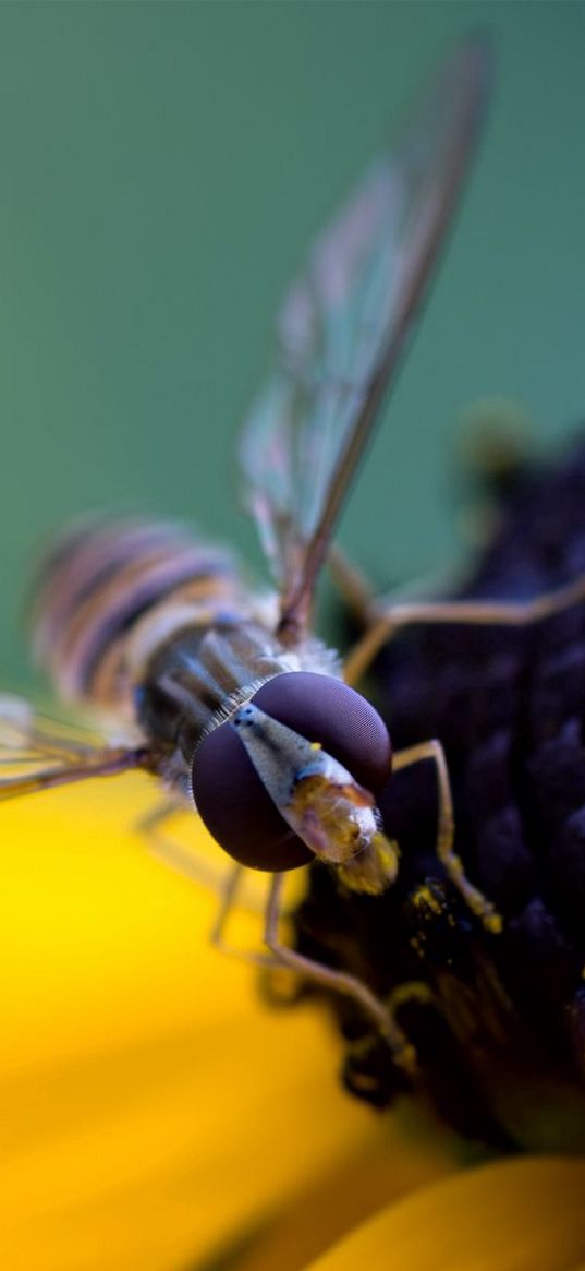
<svg viewBox="0 0 585 1271">
<path fill-rule="evenodd" d="M 107 746 L 89 731 L 36 713 L 24 698 L 0 695 L 0 802 L 141 766 L 143 747 Z"/>
</svg>

